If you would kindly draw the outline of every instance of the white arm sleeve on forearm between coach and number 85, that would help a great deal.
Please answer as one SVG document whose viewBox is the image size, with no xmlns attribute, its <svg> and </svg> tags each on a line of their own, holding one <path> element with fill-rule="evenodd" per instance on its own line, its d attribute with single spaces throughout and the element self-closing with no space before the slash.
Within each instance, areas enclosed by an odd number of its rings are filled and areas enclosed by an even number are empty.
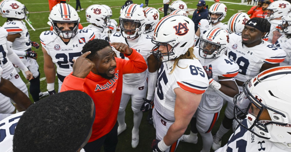
<svg viewBox="0 0 291 152">
<path fill-rule="evenodd" d="M 157 83 L 158 71 L 148 72 L 148 94 L 146 99 L 152 100 L 154 98 L 154 91 Z"/>
</svg>

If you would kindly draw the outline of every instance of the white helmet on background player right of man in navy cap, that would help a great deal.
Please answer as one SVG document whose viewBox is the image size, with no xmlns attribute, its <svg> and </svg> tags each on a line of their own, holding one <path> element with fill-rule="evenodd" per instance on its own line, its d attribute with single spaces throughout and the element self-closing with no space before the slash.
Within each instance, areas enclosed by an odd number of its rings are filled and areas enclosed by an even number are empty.
<svg viewBox="0 0 291 152">
<path fill-rule="evenodd" d="M 222 21 L 225 16 L 226 16 L 226 12 L 227 12 L 227 7 L 223 4 L 223 3 L 214 3 L 209 11 L 208 11 L 208 21 L 209 23 L 217 23 Z M 211 17 L 211 14 L 218 14 L 218 17 Z"/>
</svg>

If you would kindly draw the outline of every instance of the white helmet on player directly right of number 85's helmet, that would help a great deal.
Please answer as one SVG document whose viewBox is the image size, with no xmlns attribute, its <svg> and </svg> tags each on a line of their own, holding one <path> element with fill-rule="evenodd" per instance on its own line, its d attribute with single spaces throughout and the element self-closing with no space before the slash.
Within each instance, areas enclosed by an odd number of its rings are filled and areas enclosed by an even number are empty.
<svg viewBox="0 0 291 152">
<path fill-rule="evenodd" d="M 205 32 L 199 44 L 199 55 L 202 58 L 218 58 L 227 50 L 228 33 L 221 28 L 213 28 Z"/>
</svg>

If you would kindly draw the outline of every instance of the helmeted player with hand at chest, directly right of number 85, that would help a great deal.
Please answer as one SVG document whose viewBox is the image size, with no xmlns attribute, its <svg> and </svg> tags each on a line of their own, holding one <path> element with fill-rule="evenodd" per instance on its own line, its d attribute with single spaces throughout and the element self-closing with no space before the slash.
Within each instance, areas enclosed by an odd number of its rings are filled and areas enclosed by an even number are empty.
<svg viewBox="0 0 291 152">
<path fill-rule="evenodd" d="M 194 47 L 194 54 L 204 67 L 209 87 L 202 95 L 201 102 L 191 120 L 190 135 L 183 135 L 181 141 L 196 144 L 199 132 L 203 149 L 209 152 L 213 144 L 211 130 L 219 116 L 223 99 L 231 101 L 239 93 L 235 76 L 239 67 L 232 59 L 225 55 L 228 46 L 228 32 L 221 28 L 207 31 L 200 40 L 199 47 Z"/>
</svg>

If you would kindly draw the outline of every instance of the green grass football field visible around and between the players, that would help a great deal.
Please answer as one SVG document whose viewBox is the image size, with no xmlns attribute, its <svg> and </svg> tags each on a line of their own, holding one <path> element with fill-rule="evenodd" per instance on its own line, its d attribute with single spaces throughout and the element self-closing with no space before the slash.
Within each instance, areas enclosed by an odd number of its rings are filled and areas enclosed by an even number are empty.
<svg viewBox="0 0 291 152">
<path fill-rule="evenodd" d="M 39 1 L 39 0 L 19 0 L 21 3 L 23 3 L 26 8 L 30 12 L 30 21 L 32 22 L 33 27 L 36 29 L 36 31 L 31 30 L 29 26 L 29 34 L 31 36 L 31 41 L 36 41 L 40 44 L 39 40 L 39 35 L 41 32 L 49 30 L 49 25 L 47 24 L 48 17 L 49 17 L 49 5 L 47 0 Z M 88 25 L 86 23 L 86 17 L 85 17 L 85 10 L 88 6 L 93 5 L 93 4 L 105 4 L 111 7 L 113 16 L 111 19 L 115 19 L 117 23 L 118 17 L 119 17 L 119 11 L 121 6 L 124 4 L 126 0 L 81 0 L 81 6 L 84 8 L 83 11 L 78 12 L 79 17 L 81 19 L 81 24 L 85 27 Z M 145 3 L 143 0 L 133 0 L 134 3 L 141 4 Z M 191 1 L 191 0 L 184 0 L 187 3 L 188 8 L 194 8 L 196 9 L 196 4 L 197 1 Z M 251 6 L 245 4 L 241 4 L 240 0 L 223 0 L 221 1 L 226 4 L 228 7 L 227 15 L 226 18 L 222 21 L 223 23 L 227 23 L 228 19 L 238 11 L 240 12 L 247 12 Z M 76 1 L 75 0 L 70 0 L 68 2 L 71 6 L 75 8 L 76 6 Z M 206 4 L 210 6 L 213 4 L 213 1 L 207 0 Z M 154 7 L 154 8 L 161 8 L 163 7 L 162 0 L 150 0 L 149 1 L 149 7 Z M 160 18 L 163 17 L 163 12 L 160 12 Z M 190 18 L 192 18 L 191 15 L 189 15 Z M 5 23 L 6 19 L 5 18 L 0 18 L 0 26 L 2 26 Z M 45 81 L 45 74 L 43 72 L 43 54 L 41 51 L 41 48 L 36 50 L 34 47 L 32 48 L 38 53 L 38 65 L 39 65 L 39 70 L 40 70 L 40 78 L 41 78 L 41 91 L 47 91 L 46 87 L 46 81 Z M 22 75 L 22 74 L 20 74 Z M 24 82 L 28 85 L 29 87 L 29 82 L 22 76 L 22 79 Z M 57 78 L 55 81 L 55 90 L 58 90 L 58 84 L 57 84 Z M 32 100 L 31 96 L 30 99 Z M 140 128 L 139 128 L 139 145 L 137 146 L 136 149 L 132 149 L 131 147 L 131 131 L 133 127 L 133 112 L 131 110 L 131 104 L 127 105 L 126 109 L 126 117 L 125 117 L 125 122 L 127 123 L 127 129 L 121 133 L 118 136 L 118 145 L 117 145 L 117 150 L 116 151 L 141 151 L 141 152 L 149 152 L 151 151 L 150 145 L 152 143 L 152 140 L 155 139 L 155 129 L 153 126 L 148 124 L 146 121 L 148 113 L 144 113 L 143 115 L 143 120 L 141 122 Z M 221 124 L 222 118 L 224 116 L 224 108 L 220 113 L 220 117 L 216 125 L 214 126 L 214 129 L 212 129 L 212 134 L 215 134 Z M 187 131 L 185 134 L 189 134 L 190 129 L 188 127 Z M 228 134 L 225 135 L 225 137 L 222 140 L 222 145 L 226 144 L 228 141 L 228 138 L 231 135 L 231 131 L 229 131 Z M 198 135 L 198 143 L 197 144 L 189 144 L 189 143 L 184 143 L 180 142 L 177 148 L 177 152 L 193 152 L 193 151 L 200 151 L 202 149 L 202 140 L 201 137 Z M 212 150 L 211 150 L 212 151 Z"/>
</svg>

